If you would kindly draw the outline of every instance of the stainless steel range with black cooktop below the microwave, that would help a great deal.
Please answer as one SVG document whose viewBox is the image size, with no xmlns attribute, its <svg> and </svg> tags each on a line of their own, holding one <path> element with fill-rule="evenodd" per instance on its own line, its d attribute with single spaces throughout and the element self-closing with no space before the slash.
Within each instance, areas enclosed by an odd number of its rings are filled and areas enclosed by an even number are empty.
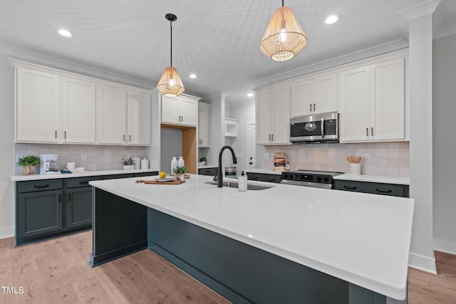
<svg viewBox="0 0 456 304">
<path fill-rule="evenodd" d="M 301 170 L 286 171 L 281 174 L 281 184 L 331 189 L 333 177 L 342 172 Z"/>
</svg>

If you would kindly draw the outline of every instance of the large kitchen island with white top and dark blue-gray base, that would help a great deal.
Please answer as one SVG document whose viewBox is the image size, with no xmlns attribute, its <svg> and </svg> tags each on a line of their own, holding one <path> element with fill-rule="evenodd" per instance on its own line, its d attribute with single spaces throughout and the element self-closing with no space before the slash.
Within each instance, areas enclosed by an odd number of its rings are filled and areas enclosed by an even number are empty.
<svg viewBox="0 0 456 304">
<path fill-rule="evenodd" d="M 406 298 L 413 199 L 135 180 L 90 182 L 92 266 L 150 248 L 234 303 Z"/>
</svg>

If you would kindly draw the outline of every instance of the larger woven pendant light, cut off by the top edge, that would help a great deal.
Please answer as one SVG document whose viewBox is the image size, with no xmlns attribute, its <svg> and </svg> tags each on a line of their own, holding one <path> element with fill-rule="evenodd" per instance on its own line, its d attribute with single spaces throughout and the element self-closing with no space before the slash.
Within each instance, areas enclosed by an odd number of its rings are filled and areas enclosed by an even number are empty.
<svg viewBox="0 0 456 304">
<path fill-rule="evenodd" d="M 288 6 L 282 6 L 276 10 L 269 21 L 260 50 L 273 61 L 287 61 L 293 58 L 304 46 L 307 37 L 296 20 L 293 11 Z"/>
</svg>

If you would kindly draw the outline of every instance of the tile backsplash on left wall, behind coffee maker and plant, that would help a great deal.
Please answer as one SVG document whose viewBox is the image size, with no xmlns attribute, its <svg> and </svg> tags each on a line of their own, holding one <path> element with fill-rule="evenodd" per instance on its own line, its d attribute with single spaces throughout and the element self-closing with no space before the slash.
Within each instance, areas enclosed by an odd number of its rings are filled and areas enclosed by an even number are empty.
<svg viewBox="0 0 456 304">
<path fill-rule="evenodd" d="M 16 161 L 24 155 L 58 154 L 59 169 L 66 167 L 67 162 L 76 162 L 76 167 L 85 167 L 88 171 L 122 169 L 122 159 L 131 154 L 132 157 L 145 157 L 144 147 L 104 146 L 104 145 L 41 145 L 15 144 Z M 86 154 L 87 159 L 81 159 Z M 39 171 L 39 169 L 38 169 Z M 35 170 L 36 173 L 38 173 Z M 14 174 L 20 174 L 15 166 Z"/>
</svg>

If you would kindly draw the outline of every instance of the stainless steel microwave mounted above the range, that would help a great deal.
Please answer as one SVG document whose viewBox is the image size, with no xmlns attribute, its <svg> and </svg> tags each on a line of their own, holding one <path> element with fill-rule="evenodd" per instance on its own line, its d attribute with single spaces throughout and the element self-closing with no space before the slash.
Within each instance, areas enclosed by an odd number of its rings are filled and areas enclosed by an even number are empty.
<svg viewBox="0 0 456 304">
<path fill-rule="evenodd" d="M 338 112 L 294 117 L 290 140 L 294 143 L 339 142 Z"/>
</svg>

